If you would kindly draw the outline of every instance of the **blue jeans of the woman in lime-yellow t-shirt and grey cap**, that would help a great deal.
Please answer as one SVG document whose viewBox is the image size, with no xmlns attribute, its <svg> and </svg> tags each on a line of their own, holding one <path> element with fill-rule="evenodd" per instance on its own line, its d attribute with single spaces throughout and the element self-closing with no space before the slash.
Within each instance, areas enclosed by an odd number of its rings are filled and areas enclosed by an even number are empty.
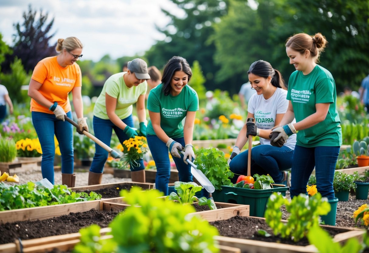
<svg viewBox="0 0 369 253">
<path fill-rule="evenodd" d="M 129 127 L 133 127 L 133 119 L 132 115 L 128 116 L 125 119 L 122 119 L 122 121 L 128 125 Z M 113 129 L 115 134 L 118 136 L 118 139 L 120 143 L 123 143 L 125 140 L 128 140 L 128 136 L 125 134 L 125 132 L 118 128 L 116 125 L 113 124 L 113 122 L 110 121 L 110 119 L 101 119 L 96 116 L 93 117 L 93 129 L 95 133 L 95 137 L 105 143 L 106 145 L 110 146 L 111 141 L 111 134 L 113 134 Z M 91 164 L 90 171 L 94 173 L 103 173 L 104 170 L 104 164 L 106 160 L 108 159 L 108 152 L 101 148 L 100 145 L 97 143 L 95 144 L 95 155 L 93 157 L 93 161 Z M 145 169 L 144 163 L 141 162 L 141 165 L 139 168 L 142 168 L 140 170 Z M 138 171 L 139 169 L 136 169 L 135 171 Z"/>
</svg>

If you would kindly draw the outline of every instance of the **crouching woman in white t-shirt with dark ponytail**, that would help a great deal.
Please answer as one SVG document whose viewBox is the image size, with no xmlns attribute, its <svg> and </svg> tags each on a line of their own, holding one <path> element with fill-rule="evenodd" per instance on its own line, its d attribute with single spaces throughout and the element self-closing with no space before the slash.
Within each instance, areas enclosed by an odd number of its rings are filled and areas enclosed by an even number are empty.
<svg viewBox="0 0 369 253">
<path fill-rule="evenodd" d="M 296 134 L 290 136 L 282 147 L 272 146 L 269 141 L 270 129 L 279 124 L 287 111 L 287 88 L 281 73 L 264 60 L 252 63 L 247 73 L 252 89 L 256 90 L 248 102 L 247 118 L 255 118 L 255 126 L 246 128 L 245 124 L 239 132 L 228 160 L 230 170 L 237 175 L 246 175 L 248 150 L 240 153 L 240 149 L 244 147 L 249 134 L 258 135 L 261 145 L 252 148 L 251 176 L 255 173 L 269 174 L 275 183 L 287 184 L 287 171 L 284 170 L 291 168 Z M 233 183 L 236 180 L 236 176 L 231 179 Z"/>
</svg>

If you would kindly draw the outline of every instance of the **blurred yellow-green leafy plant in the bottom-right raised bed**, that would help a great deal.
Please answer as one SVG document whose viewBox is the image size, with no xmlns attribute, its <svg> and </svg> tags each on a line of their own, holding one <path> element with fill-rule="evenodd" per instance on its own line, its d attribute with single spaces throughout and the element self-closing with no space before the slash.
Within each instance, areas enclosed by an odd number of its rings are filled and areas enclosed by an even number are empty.
<svg viewBox="0 0 369 253">
<path fill-rule="evenodd" d="M 287 212 L 290 213 L 287 223 L 281 221 L 282 205 L 285 205 Z M 280 193 L 273 193 L 269 197 L 265 210 L 265 222 L 273 229 L 274 235 L 298 242 L 311 228 L 319 225 L 319 216 L 328 214 L 330 210 L 331 205 L 327 198 L 322 198 L 320 193 L 311 197 L 301 193 L 291 201 Z"/>
</svg>

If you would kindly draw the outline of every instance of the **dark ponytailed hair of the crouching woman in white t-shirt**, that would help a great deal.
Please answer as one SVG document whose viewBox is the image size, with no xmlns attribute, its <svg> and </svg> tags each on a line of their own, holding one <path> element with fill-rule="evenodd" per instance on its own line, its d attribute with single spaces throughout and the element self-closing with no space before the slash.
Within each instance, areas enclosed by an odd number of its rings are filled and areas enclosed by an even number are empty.
<svg viewBox="0 0 369 253">
<path fill-rule="evenodd" d="M 258 60 L 256 62 L 253 62 L 247 73 L 252 73 L 256 76 L 261 76 L 264 78 L 268 78 L 268 76 L 270 76 L 272 77 L 272 81 L 270 82 L 273 86 L 282 88 L 283 90 L 287 90 L 282 74 L 278 70 L 273 69 L 272 65 L 270 65 L 270 63 L 266 62 L 265 60 Z"/>
</svg>

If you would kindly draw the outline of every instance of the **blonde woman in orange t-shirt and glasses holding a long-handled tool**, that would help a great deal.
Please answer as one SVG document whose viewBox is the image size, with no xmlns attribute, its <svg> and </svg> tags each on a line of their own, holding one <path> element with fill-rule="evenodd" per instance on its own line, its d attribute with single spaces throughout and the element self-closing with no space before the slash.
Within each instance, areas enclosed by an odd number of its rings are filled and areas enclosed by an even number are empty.
<svg viewBox="0 0 369 253">
<path fill-rule="evenodd" d="M 57 56 L 40 60 L 32 74 L 28 88 L 31 97 L 32 122 L 42 148 L 42 177 L 54 184 L 54 134 L 62 155 L 62 184 L 74 187 L 73 127 L 64 116 L 72 118 L 68 93 L 72 91 L 73 105 L 78 118 L 77 131 L 88 132 L 83 117 L 81 94 L 82 76 L 76 61 L 82 57 L 83 45 L 76 37 L 58 39 Z"/>
</svg>

